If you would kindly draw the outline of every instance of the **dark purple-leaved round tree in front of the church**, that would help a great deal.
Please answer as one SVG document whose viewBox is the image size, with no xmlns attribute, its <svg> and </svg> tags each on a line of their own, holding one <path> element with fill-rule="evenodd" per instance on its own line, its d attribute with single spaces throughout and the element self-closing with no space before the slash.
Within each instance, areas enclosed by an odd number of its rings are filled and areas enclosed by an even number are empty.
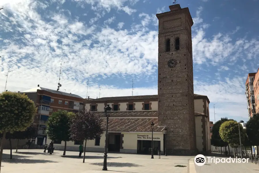
<svg viewBox="0 0 259 173">
<path fill-rule="evenodd" d="M 101 128 L 102 119 L 95 116 L 92 112 L 80 110 L 71 118 L 70 135 L 73 141 L 94 140 L 96 137 L 101 137 L 104 129 Z M 85 163 L 85 149 L 84 159 Z"/>
</svg>

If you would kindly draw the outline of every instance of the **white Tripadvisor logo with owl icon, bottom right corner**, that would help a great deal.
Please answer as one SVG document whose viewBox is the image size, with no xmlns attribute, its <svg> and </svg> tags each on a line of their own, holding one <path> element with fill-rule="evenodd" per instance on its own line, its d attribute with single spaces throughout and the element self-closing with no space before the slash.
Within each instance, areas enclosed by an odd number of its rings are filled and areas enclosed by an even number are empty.
<svg viewBox="0 0 259 173">
<path fill-rule="evenodd" d="M 206 163 L 206 159 L 208 160 L 208 163 L 248 163 L 248 158 L 245 159 L 241 159 L 241 158 L 216 158 L 216 157 L 205 157 L 204 155 L 197 155 L 195 158 L 194 158 L 194 163 L 197 165 L 197 166 L 203 166 L 205 163 Z"/>
</svg>

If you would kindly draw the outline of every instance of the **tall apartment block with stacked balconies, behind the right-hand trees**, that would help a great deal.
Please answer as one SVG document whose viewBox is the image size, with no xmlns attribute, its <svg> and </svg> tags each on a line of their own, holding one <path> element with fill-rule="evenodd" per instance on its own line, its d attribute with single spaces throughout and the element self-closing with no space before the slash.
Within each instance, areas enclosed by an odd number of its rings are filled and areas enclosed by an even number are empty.
<svg viewBox="0 0 259 173">
<path fill-rule="evenodd" d="M 254 95 L 254 81 L 256 73 L 249 73 L 245 82 L 245 94 L 247 99 L 247 110 L 249 119 L 256 114 L 256 103 Z"/>
</svg>

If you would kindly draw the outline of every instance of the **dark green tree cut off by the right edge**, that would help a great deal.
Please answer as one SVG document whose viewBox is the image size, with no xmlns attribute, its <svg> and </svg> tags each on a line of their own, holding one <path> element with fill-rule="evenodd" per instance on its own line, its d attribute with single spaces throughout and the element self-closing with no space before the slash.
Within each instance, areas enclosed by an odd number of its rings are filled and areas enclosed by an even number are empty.
<svg viewBox="0 0 259 173">
<path fill-rule="evenodd" d="M 253 146 L 259 145 L 259 113 L 257 113 L 247 121 L 246 134 Z M 258 152 L 258 149 L 257 149 L 257 152 Z"/>
</svg>

